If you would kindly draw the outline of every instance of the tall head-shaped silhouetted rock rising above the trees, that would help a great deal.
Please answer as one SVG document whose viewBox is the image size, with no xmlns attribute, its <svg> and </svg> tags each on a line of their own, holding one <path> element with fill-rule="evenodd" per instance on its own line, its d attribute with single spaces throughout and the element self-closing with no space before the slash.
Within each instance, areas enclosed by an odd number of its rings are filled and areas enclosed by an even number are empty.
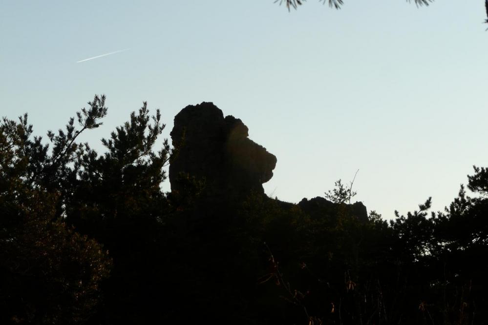
<svg viewBox="0 0 488 325">
<path fill-rule="evenodd" d="M 175 154 L 170 163 L 171 191 L 183 190 L 183 174 L 205 182 L 210 195 L 264 193 L 273 177 L 276 157 L 248 138 L 244 123 L 226 116 L 212 102 L 183 108 L 170 133 Z"/>
</svg>

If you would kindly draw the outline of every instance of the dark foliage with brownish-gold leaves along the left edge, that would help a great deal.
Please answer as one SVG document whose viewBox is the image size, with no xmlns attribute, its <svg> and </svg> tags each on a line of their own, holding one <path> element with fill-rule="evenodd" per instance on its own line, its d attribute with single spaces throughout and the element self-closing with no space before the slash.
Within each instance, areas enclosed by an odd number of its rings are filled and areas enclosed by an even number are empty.
<svg viewBox="0 0 488 325">
<path fill-rule="evenodd" d="M 69 145 L 49 155 L 41 138 L 31 139 L 27 115 L 19 120 L 0 124 L 0 320 L 81 323 L 100 301 L 111 261 L 102 245 L 56 217 L 60 193 L 40 181 L 42 173 L 62 177 L 56 166 Z"/>
</svg>

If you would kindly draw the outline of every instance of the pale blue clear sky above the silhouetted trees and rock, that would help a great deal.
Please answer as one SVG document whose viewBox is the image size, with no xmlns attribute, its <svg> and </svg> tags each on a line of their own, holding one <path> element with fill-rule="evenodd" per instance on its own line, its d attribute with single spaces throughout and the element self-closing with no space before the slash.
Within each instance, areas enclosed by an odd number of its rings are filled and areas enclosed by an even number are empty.
<svg viewBox="0 0 488 325">
<path fill-rule="evenodd" d="M 45 135 L 106 94 L 81 139 L 103 151 L 144 101 L 168 138 L 182 108 L 213 102 L 277 157 L 272 197 L 323 196 L 359 169 L 368 211 L 443 210 L 488 165 L 484 1 L 344 2 L 2 0 L 0 116 Z"/>
</svg>

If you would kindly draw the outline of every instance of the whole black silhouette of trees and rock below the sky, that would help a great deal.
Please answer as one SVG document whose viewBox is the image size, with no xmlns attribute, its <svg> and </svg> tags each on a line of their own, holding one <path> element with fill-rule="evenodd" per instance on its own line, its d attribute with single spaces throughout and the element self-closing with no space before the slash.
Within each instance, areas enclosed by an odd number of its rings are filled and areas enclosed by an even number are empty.
<svg viewBox="0 0 488 325">
<path fill-rule="evenodd" d="M 79 135 L 106 114 L 96 96 L 46 140 L 1 122 L 0 324 L 488 323 L 487 169 L 388 223 L 339 182 L 268 198 L 276 157 L 212 103 L 174 148 L 144 103 L 97 153 Z"/>
</svg>

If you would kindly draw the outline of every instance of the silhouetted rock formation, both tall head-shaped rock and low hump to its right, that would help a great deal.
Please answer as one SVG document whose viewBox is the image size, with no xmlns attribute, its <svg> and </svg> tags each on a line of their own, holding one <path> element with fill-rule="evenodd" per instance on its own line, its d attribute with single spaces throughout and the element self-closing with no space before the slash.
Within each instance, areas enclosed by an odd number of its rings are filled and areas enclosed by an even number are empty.
<svg viewBox="0 0 488 325">
<path fill-rule="evenodd" d="M 199 214 L 214 214 L 224 197 L 224 201 L 233 202 L 233 197 L 247 195 L 250 191 L 264 195 L 262 184 L 273 177 L 276 157 L 249 139 L 248 128 L 241 120 L 224 117 L 212 102 L 202 102 L 183 108 L 175 116 L 170 136 L 175 148 L 169 173 L 171 191 L 175 194 L 192 192 L 187 176 L 204 183 L 202 202 L 208 204 L 202 206 L 210 212 L 204 213 L 204 208 L 199 206 Z M 279 204 L 283 208 L 293 205 Z M 311 218 L 326 218 L 332 224 L 344 213 L 363 222 L 368 220 L 366 207 L 361 202 L 338 204 L 316 197 L 303 199 L 298 206 Z"/>
</svg>

